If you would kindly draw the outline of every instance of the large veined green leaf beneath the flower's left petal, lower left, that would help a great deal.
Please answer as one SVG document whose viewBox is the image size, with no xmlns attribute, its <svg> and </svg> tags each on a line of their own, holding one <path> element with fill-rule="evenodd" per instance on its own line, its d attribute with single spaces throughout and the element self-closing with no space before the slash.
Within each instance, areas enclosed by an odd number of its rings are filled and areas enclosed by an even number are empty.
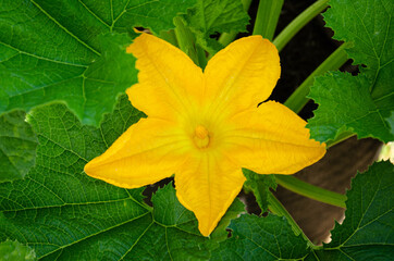
<svg viewBox="0 0 394 261">
<path fill-rule="evenodd" d="M 119 188 L 83 172 L 141 116 L 125 95 L 100 128 L 82 125 L 64 104 L 34 109 L 36 165 L 24 179 L 0 184 L 0 240 L 16 239 L 42 260 L 209 259 L 214 241 L 200 235 L 171 185 L 152 197 L 152 209 L 143 201 L 144 188 Z"/>
</svg>

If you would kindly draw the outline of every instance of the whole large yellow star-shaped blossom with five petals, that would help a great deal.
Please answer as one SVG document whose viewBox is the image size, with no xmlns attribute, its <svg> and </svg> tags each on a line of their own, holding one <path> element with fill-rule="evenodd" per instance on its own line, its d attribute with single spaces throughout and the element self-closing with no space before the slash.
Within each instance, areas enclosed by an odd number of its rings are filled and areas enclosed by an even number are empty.
<svg viewBox="0 0 394 261">
<path fill-rule="evenodd" d="M 258 107 L 281 71 L 276 48 L 260 36 L 234 41 L 205 72 L 148 34 L 127 51 L 139 70 L 139 83 L 127 95 L 148 117 L 86 164 L 85 172 L 124 188 L 175 174 L 176 196 L 195 213 L 202 235 L 213 231 L 242 189 L 242 167 L 293 174 L 325 153 L 290 109 L 274 101 Z"/>
</svg>

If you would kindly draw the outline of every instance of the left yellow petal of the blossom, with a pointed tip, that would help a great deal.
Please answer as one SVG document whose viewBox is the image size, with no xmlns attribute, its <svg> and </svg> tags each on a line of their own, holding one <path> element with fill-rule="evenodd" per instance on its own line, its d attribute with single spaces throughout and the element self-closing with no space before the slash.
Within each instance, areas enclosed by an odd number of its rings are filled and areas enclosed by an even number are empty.
<svg viewBox="0 0 394 261">
<path fill-rule="evenodd" d="M 156 183 L 174 174 L 185 159 L 189 141 L 182 137 L 168 121 L 141 119 L 103 154 L 87 163 L 85 172 L 125 188 Z"/>
</svg>

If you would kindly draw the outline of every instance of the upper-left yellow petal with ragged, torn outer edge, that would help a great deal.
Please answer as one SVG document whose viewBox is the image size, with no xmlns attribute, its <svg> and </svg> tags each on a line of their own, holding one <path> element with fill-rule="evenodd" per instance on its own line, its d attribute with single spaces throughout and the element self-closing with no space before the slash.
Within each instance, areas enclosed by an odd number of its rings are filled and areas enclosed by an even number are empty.
<svg viewBox="0 0 394 261">
<path fill-rule="evenodd" d="M 137 58 L 138 82 L 127 89 L 128 99 L 150 117 L 173 119 L 199 102 L 204 91 L 200 67 L 180 49 L 143 34 L 127 48 Z"/>
</svg>

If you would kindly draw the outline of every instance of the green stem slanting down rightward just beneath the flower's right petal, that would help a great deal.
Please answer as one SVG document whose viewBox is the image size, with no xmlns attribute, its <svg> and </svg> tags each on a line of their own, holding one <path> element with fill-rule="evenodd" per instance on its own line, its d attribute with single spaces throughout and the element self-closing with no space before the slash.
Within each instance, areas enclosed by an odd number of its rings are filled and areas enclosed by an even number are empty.
<svg viewBox="0 0 394 261">
<path fill-rule="evenodd" d="M 345 195 L 313 186 L 294 176 L 275 175 L 275 179 L 279 185 L 293 192 L 303 195 L 310 199 L 318 200 L 320 202 L 329 203 L 344 209 L 346 208 L 345 201 L 347 197 Z"/>
</svg>

